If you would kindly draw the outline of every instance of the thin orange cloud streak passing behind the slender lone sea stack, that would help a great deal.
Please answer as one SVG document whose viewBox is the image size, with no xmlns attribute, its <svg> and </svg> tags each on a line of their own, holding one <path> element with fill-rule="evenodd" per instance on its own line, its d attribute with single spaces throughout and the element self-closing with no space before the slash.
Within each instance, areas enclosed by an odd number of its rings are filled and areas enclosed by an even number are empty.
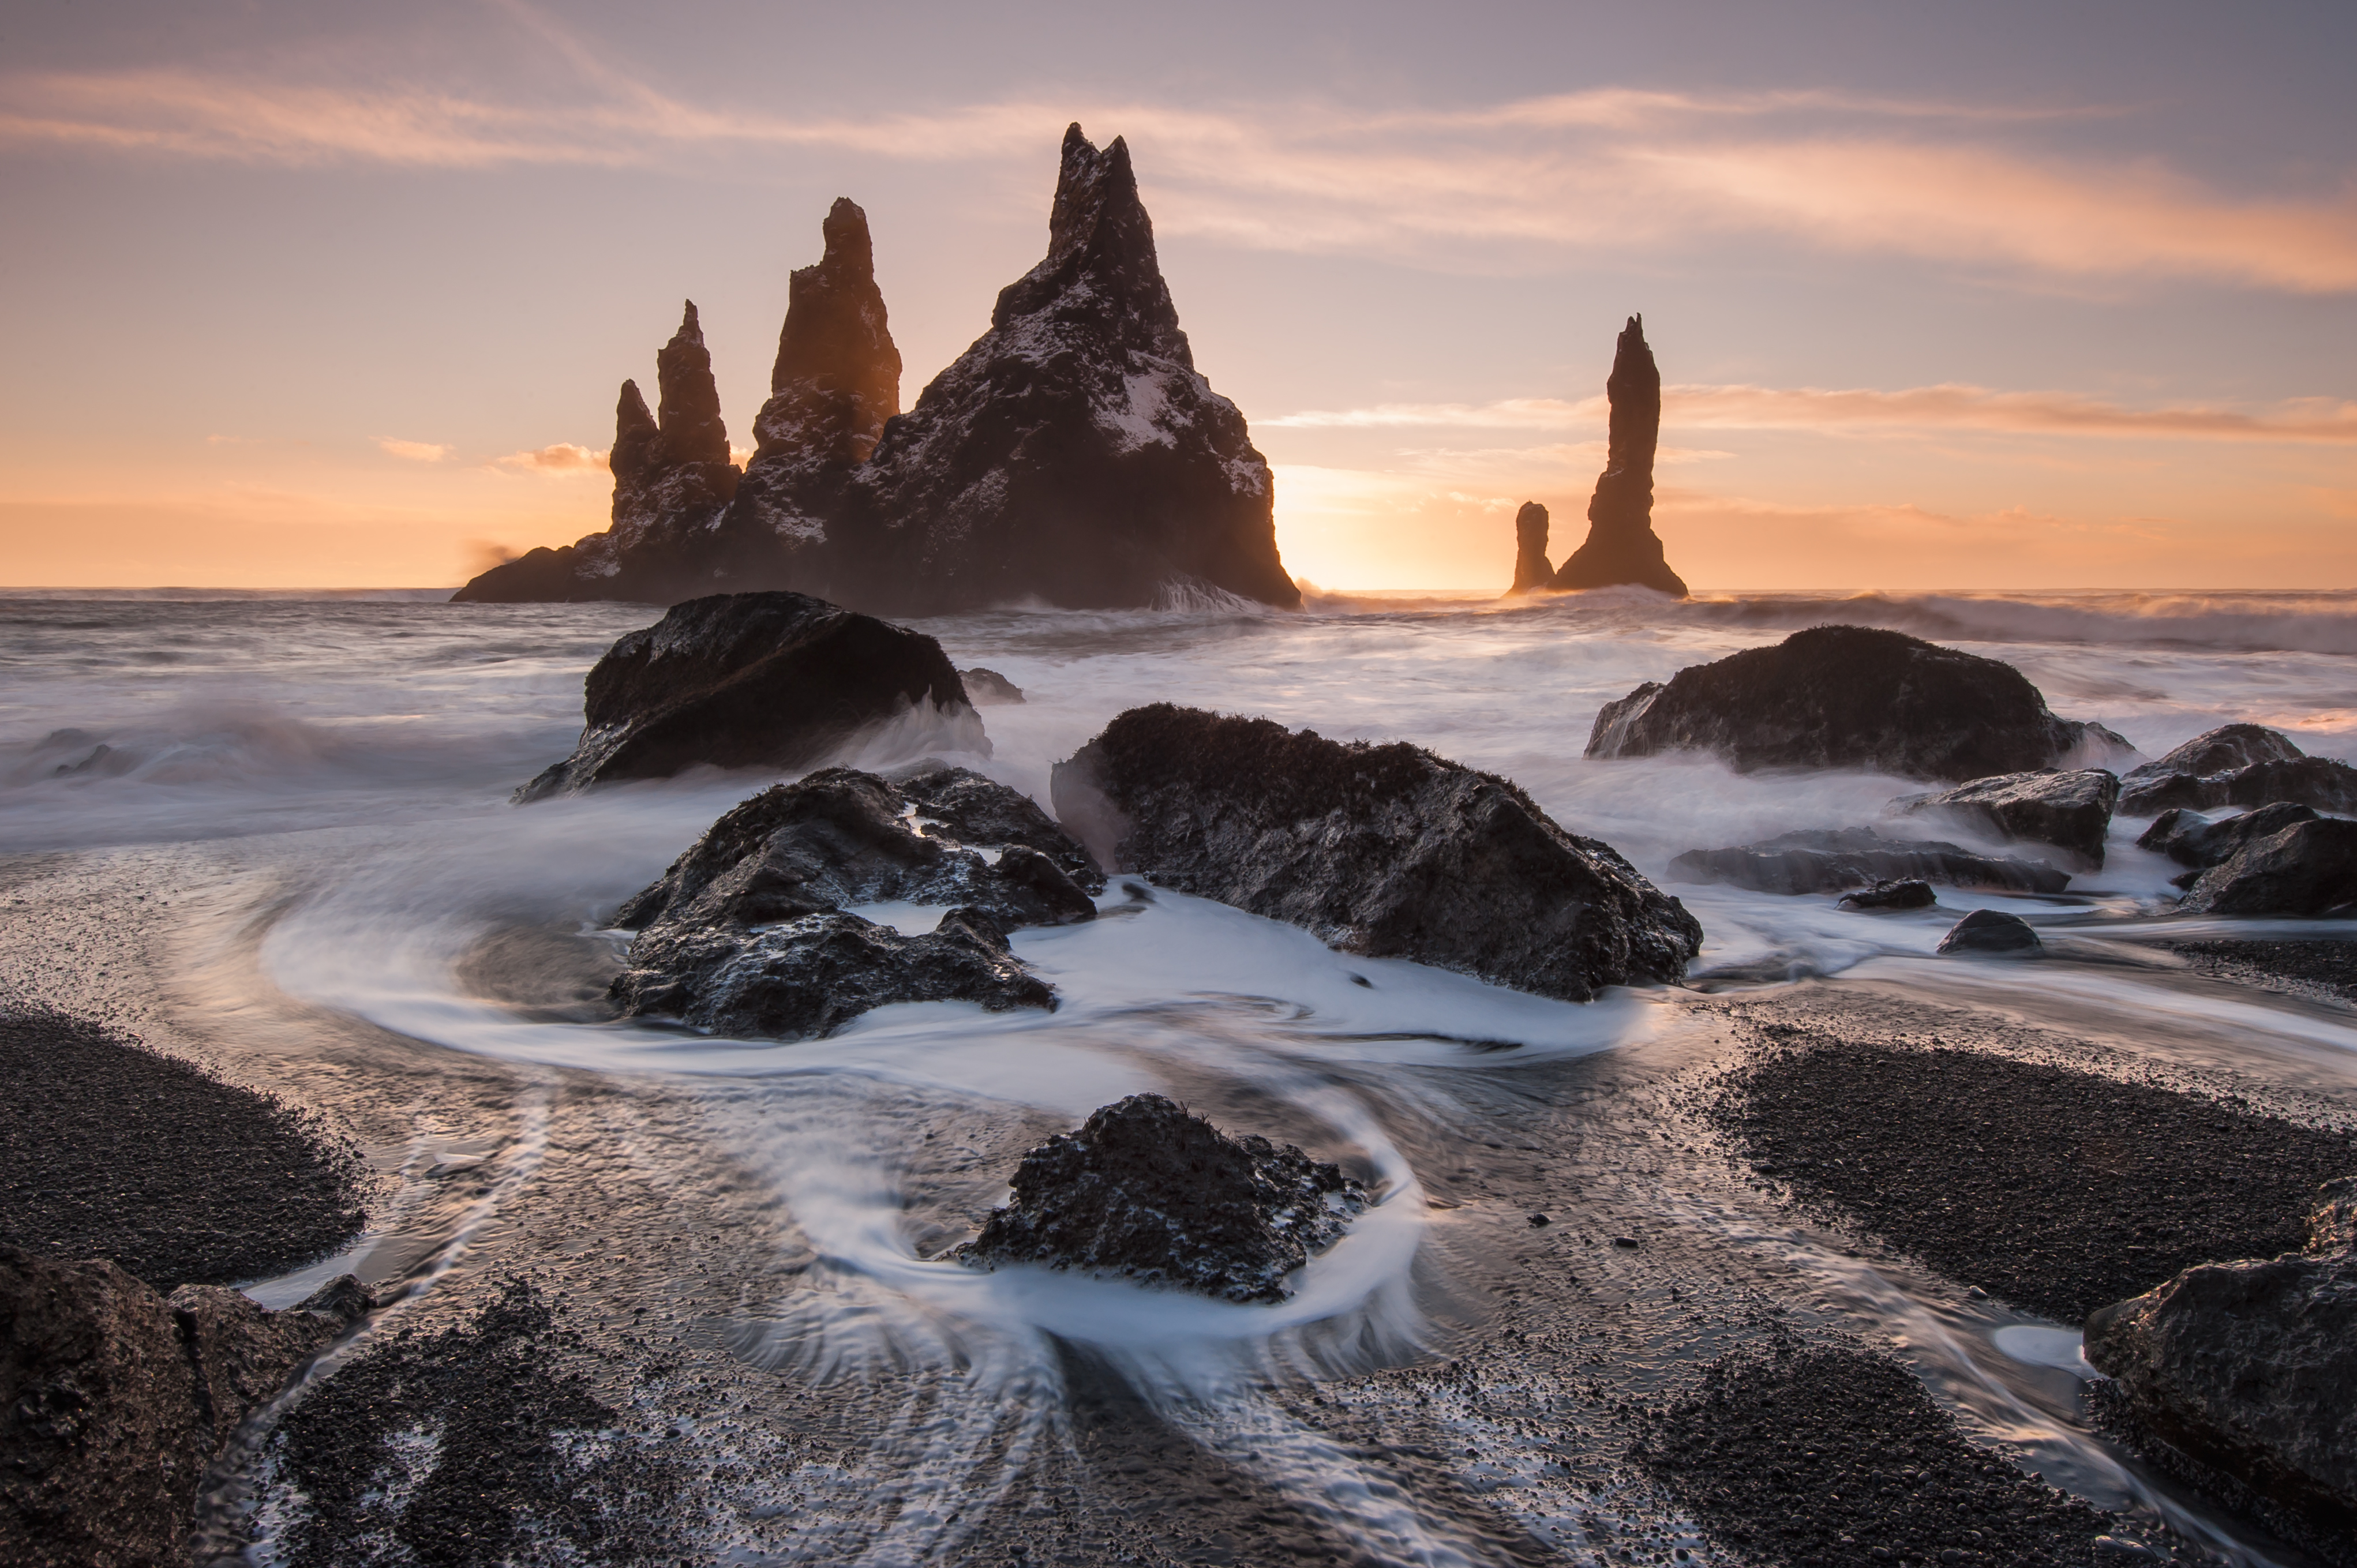
<svg viewBox="0 0 2357 1568">
<path fill-rule="evenodd" d="M 1303 410 L 1256 424 L 1275 429 L 1565 429 L 1603 424 L 1605 398 L 1501 398 L 1497 403 L 1376 403 Z M 1978 429 L 2029 436 L 2145 441 L 2293 441 L 2357 446 L 2357 403 L 2291 398 L 2267 410 L 2128 408 L 2072 391 L 1992 391 L 1940 384 L 1897 391 L 1820 387 L 1664 387 L 1666 429 L 1805 429 L 1822 434 Z"/>
</svg>

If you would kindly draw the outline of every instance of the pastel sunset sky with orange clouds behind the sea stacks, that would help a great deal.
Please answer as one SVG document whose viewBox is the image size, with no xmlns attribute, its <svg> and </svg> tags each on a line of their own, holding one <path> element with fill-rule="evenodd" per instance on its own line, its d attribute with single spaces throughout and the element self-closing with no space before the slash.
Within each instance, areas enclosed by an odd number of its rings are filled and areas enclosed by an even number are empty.
<svg viewBox="0 0 2357 1568">
<path fill-rule="evenodd" d="M 915 403 L 1127 137 L 1320 587 L 1584 538 L 1643 311 L 1695 587 L 2357 587 L 2357 7 L 0 7 L 0 585 L 431 587 L 750 446 L 870 217 Z"/>
</svg>

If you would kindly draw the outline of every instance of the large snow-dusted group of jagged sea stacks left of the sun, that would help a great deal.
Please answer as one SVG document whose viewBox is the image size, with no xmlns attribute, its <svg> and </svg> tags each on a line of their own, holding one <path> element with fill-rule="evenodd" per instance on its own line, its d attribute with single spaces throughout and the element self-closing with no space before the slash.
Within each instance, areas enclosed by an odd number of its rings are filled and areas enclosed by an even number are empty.
<svg viewBox="0 0 2357 1568">
<path fill-rule="evenodd" d="M 714 474 L 693 495 L 639 474 L 636 453 L 674 450 L 665 380 L 655 439 L 627 417 L 615 439 L 615 526 L 457 597 L 672 604 L 794 589 L 874 615 L 1025 601 L 1299 608 L 1268 460 L 1195 370 L 1122 139 L 1098 151 L 1080 125 L 1065 132 L 1047 259 L 999 292 L 990 330 L 907 413 L 858 205 L 834 203 L 825 241 L 825 259 L 792 276 L 742 486 L 735 469 L 726 490 Z M 709 398 L 681 415 L 681 441 L 705 413 L 719 431 Z"/>
</svg>

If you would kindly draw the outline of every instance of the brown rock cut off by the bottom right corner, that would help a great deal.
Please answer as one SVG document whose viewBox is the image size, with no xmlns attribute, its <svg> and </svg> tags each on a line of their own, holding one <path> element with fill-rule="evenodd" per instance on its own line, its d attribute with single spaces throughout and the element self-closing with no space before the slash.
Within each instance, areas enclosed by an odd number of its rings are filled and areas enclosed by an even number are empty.
<svg viewBox="0 0 2357 1568">
<path fill-rule="evenodd" d="M 2185 1269 L 2088 1313 L 2086 1358 L 2164 1464 L 2357 1561 L 2357 1179 L 2324 1186 L 2305 1252 Z"/>
</svg>

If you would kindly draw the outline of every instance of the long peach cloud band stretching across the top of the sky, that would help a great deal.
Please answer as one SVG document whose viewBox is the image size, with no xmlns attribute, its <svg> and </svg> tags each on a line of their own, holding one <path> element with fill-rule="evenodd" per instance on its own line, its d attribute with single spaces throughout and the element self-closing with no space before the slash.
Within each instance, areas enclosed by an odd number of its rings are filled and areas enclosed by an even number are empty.
<svg viewBox="0 0 2357 1568">
<path fill-rule="evenodd" d="M 1077 116 L 1101 137 L 1129 134 L 1167 233 L 1249 248 L 1497 271 L 1560 252 L 1775 236 L 2048 278 L 2357 290 L 2352 177 L 2329 193 L 2227 196 L 2150 160 L 1973 139 L 2003 123 L 2018 141 L 2039 123 L 2124 113 L 2117 106 L 1605 87 L 1452 111 L 1014 99 L 797 118 L 667 97 L 540 12 L 502 9 L 535 57 L 570 71 L 559 97 L 351 83 L 323 64 L 309 75 L 14 73 L 0 75 L 0 146 L 297 167 L 709 167 L 726 151 L 990 163 L 1037 158 Z"/>
</svg>

